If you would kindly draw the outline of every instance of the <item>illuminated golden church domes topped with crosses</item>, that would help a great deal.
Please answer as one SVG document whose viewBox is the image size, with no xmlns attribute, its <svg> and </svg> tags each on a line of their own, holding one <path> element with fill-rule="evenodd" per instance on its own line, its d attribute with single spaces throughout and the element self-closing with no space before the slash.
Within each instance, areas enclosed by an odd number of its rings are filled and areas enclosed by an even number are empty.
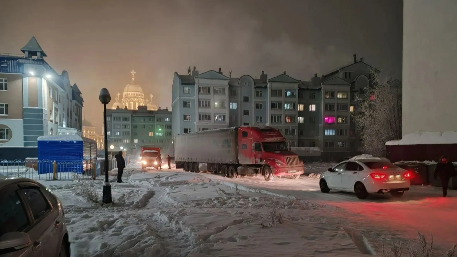
<svg viewBox="0 0 457 257">
<path fill-rule="evenodd" d="M 138 110 L 139 106 L 146 106 L 148 111 L 157 111 L 157 106 L 152 103 L 153 95 L 149 95 L 149 99 L 144 100 L 144 93 L 141 86 L 134 83 L 135 81 L 135 74 L 136 72 L 132 70 L 130 72 L 132 74 L 132 82 L 130 82 L 124 88 L 124 92 L 122 93 L 122 100 L 119 102 L 119 96 L 121 95 L 119 92 L 116 94 L 116 102 L 113 103 L 111 109 L 128 109 L 128 110 Z"/>
</svg>

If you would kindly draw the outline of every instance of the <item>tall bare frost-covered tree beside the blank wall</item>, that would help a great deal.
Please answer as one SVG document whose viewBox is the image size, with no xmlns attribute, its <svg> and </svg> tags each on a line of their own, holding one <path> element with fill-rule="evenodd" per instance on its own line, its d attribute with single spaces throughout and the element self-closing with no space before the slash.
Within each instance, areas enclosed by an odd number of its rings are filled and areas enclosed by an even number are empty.
<svg viewBox="0 0 457 257">
<path fill-rule="evenodd" d="M 373 156 L 385 155 L 385 143 L 401 138 L 401 82 L 389 76 L 381 81 L 371 72 L 370 87 L 356 96 L 359 102 L 354 120 L 361 135 L 361 150 Z"/>
</svg>

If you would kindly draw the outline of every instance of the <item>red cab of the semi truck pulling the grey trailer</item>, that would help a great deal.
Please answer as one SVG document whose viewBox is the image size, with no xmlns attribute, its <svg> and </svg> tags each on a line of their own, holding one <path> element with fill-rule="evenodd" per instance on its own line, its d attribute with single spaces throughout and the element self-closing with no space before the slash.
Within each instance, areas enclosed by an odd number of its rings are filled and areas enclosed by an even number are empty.
<svg viewBox="0 0 457 257">
<path fill-rule="evenodd" d="M 238 156 L 242 165 L 260 165 L 264 176 L 292 176 L 299 178 L 304 173 L 303 162 L 298 155 L 288 150 L 286 139 L 271 127 L 241 126 L 238 131 Z M 269 178 L 266 177 L 269 180 Z"/>
</svg>

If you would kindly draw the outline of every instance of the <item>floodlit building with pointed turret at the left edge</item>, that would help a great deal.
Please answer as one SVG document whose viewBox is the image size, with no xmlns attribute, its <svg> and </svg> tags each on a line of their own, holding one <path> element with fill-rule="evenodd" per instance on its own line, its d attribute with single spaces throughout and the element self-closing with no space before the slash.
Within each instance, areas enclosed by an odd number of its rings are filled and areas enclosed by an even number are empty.
<svg viewBox="0 0 457 257">
<path fill-rule="evenodd" d="M 78 86 L 44 60 L 35 37 L 21 52 L 0 54 L 1 159 L 35 157 L 42 135 L 82 135 L 84 101 Z"/>
</svg>

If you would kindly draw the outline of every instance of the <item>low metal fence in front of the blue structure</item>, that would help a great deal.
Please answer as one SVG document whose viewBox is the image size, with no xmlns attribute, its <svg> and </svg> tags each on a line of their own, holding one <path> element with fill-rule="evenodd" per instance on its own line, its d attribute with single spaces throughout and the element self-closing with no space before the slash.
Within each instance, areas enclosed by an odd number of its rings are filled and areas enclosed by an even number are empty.
<svg viewBox="0 0 457 257">
<path fill-rule="evenodd" d="M 125 157 L 126 164 L 130 158 Z M 105 174 L 105 160 L 64 161 L 27 159 L 0 160 L 0 174 L 33 180 L 73 180 L 77 177 L 96 179 Z M 116 159 L 108 160 L 108 171 L 117 168 Z"/>
</svg>

